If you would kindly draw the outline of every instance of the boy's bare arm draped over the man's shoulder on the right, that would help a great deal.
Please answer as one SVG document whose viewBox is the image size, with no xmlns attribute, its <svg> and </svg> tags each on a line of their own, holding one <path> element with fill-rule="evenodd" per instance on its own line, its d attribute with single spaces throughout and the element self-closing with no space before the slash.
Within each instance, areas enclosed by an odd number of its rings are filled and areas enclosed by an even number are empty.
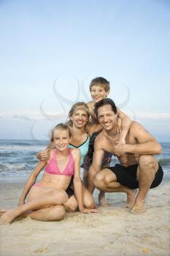
<svg viewBox="0 0 170 256">
<path fill-rule="evenodd" d="M 128 129 L 131 126 L 131 119 L 125 115 L 120 109 L 117 108 L 117 116 L 121 118 L 121 129 L 120 129 L 120 139 L 119 143 L 124 144 L 125 143 L 125 137 L 128 134 Z"/>
</svg>

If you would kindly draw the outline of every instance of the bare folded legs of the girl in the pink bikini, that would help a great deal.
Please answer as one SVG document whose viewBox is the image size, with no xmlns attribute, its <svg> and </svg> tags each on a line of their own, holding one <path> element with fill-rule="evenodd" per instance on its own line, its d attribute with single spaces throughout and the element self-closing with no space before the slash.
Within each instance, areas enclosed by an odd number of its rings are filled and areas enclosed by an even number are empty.
<svg viewBox="0 0 170 256">
<path fill-rule="evenodd" d="M 32 219 L 41 221 L 61 220 L 65 214 L 63 203 L 67 200 L 68 195 L 63 189 L 34 186 L 28 193 L 27 203 L 7 211 L 1 216 L 0 222 L 11 223 L 24 213 Z"/>
</svg>

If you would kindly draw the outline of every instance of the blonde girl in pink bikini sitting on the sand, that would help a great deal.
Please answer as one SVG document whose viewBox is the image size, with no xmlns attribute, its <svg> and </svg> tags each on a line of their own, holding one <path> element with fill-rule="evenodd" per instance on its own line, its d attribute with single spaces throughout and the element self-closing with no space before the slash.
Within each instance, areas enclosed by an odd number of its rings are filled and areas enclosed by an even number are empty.
<svg viewBox="0 0 170 256">
<path fill-rule="evenodd" d="M 70 140 L 69 127 L 65 124 L 56 125 L 51 135 L 55 148 L 50 149 L 47 161 L 38 162 L 36 165 L 26 182 L 18 207 L 4 213 L 0 222 L 10 223 L 24 213 L 32 219 L 41 221 L 63 219 L 69 195 L 72 194 L 72 189 L 68 189 L 72 176 L 74 176 L 74 195 L 80 212 L 96 212 L 96 209 L 92 208 L 94 203 L 90 192 L 87 189 L 82 192 L 80 151 L 77 148 L 69 148 Z M 43 167 L 45 172 L 41 180 L 35 183 Z M 27 203 L 25 203 L 26 197 L 28 197 Z M 89 200 L 90 203 L 85 203 L 85 197 L 86 202 Z M 85 208 L 85 204 L 90 208 Z"/>
</svg>

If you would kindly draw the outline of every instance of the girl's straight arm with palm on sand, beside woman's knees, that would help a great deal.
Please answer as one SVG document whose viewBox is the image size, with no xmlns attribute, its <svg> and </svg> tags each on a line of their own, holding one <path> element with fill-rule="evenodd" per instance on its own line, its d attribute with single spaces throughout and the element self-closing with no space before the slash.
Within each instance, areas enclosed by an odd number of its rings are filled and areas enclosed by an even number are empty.
<svg viewBox="0 0 170 256">
<path fill-rule="evenodd" d="M 73 148 L 72 153 L 74 155 L 74 194 L 77 199 L 77 204 L 82 214 L 88 214 L 90 212 L 96 212 L 96 209 L 89 209 L 83 206 L 82 200 L 82 181 L 80 178 L 80 151 L 78 148 Z"/>
</svg>

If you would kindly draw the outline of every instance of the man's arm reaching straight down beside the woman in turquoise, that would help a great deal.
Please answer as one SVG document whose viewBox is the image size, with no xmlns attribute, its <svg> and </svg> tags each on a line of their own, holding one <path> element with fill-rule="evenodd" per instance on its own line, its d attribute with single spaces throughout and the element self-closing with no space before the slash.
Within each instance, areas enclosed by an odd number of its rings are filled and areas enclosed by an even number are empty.
<svg viewBox="0 0 170 256">
<path fill-rule="evenodd" d="M 88 190 L 93 194 L 94 185 L 93 178 L 95 174 L 101 170 L 102 160 L 104 159 L 104 150 L 100 146 L 101 142 L 96 138 L 94 144 L 93 163 L 88 170 Z"/>
</svg>

